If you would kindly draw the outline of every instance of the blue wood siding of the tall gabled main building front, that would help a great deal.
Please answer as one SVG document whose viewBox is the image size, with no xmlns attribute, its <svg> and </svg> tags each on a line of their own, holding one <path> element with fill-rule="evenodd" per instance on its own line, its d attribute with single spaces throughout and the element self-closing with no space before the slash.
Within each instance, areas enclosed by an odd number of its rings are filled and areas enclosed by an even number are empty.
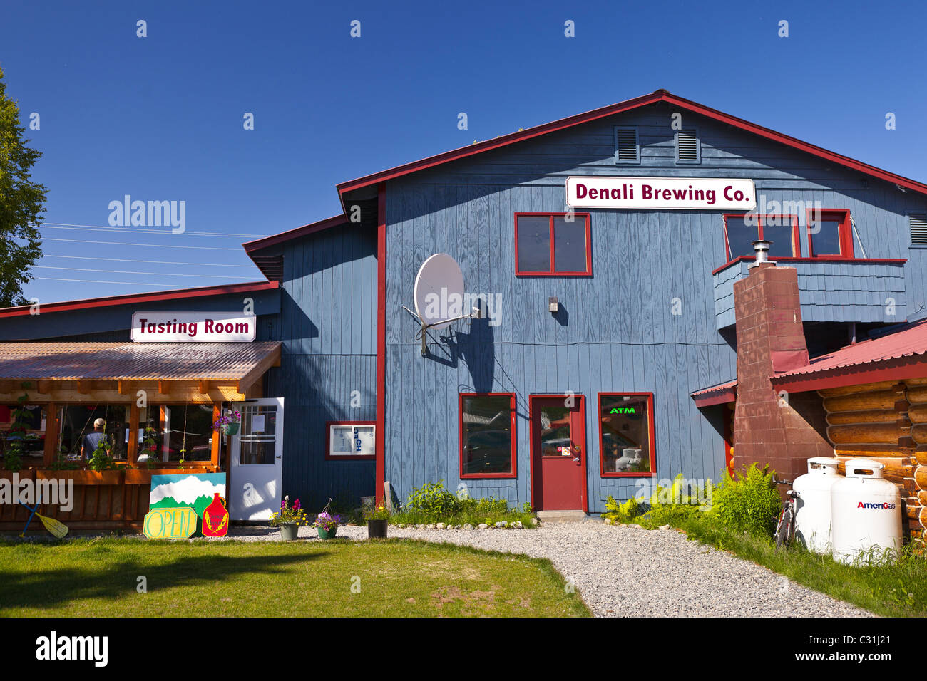
<svg viewBox="0 0 927 681">
<path fill-rule="evenodd" d="M 726 260 L 721 211 L 593 209 L 591 277 L 514 276 L 514 213 L 564 211 L 568 175 L 750 178 L 767 204 L 849 208 L 857 257 L 865 250 L 870 259 L 909 261 L 882 270 L 809 264 L 800 271 L 809 319 L 876 321 L 886 292 L 900 306 L 886 322 L 923 306 L 925 251 L 908 248 L 906 217 L 923 211 L 923 197 L 694 114 L 684 125 L 698 128 L 702 160 L 679 167 L 669 116 L 669 107 L 648 107 L 387 183 L 386 474 L 400 498 L 425 482 L 461 483 L 460 392 L 513 392 L 517 404 L 517 478 L 468 479 L 471 495 L 530 499 L 533 393 L 586 397 L 590 511 L 602 511 L 610 494 L 628 498 L 638 483 L 600 475 L 598 392 L 654 393 L 657 478 L 717 479 L 724 468 L 722 424 L 690 397 L 736 376 L 717 322 L 730 301 L 711 273 Z M 639 166 L 616 167 L 616 125 L 638 128 Z M 467 292 L 501 296 L 502 316 L 498 326 L 456 322 L 433 334 L 423 359 L 416 324 L 400 306 L 411 306 L 415 272 L 436 252 L 458 260 Z M 734 275 L 722 272 L 720 284 L 732 286 Z M 559 319 L 547 309 L 550 296 L 565 309 Z"/>
</svg>

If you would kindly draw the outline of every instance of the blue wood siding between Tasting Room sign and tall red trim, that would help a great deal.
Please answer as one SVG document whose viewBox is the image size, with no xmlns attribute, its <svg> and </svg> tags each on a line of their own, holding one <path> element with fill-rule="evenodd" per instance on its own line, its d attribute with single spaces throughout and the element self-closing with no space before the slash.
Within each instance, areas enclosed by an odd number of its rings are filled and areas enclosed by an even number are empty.
<svg viewBox="0 0 927 681">
<path fill-rule="evenodd" d="M 310 511 L 355 508 L 375 494 L 375 462 L 325 460 L 325 422 L 376 418 L 376 234 L 346 226 L 281 248 L 281 310 L 260 340 L 283 344 L 264 383 L 285 399 L 283 493 Z"/>
</svg>

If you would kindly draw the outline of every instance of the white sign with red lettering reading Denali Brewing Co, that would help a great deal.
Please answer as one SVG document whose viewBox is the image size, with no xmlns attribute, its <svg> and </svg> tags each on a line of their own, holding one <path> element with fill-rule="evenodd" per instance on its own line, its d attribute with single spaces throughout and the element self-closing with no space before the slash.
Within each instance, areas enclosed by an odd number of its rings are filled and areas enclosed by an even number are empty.
<svg viewBox="0 0 927 681">
<path fill-rule="evenodd" d="M 753 180 L 706 177 L 568 177 L 570 208 L 753 210 Z"/>
</svg>

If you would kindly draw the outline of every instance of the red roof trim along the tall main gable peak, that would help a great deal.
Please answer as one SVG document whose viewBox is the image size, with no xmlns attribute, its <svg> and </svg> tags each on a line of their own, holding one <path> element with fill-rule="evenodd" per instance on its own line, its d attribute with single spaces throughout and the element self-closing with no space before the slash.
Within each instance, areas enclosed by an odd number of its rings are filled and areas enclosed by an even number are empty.
<svg viewBox="0 0 927 681">
<path fill-rule="evenodd" d="M 570 116 L 565 119 L 544 123 L 533 128 L 528 128 L 524 131 L 511 132 L 509 134 L 502 135 L 502 137 L 496 137 L 491 140 L 479 142 L 476 145 L 464 146 L 459 149 L 453 149 L 451 151 L 444 152 L 443 154 L 438 154 L 437 156 L 422 158 L 411 163 L 406 163 L 401 166 L 397 166 L 396 168 L 381 170 L 380 172 L 375 172 L 371 175 L 364 175 L 363 177 L 357 178 L 356 180 L 350 180 L 349 182 L 337 184 L 338 195 L 342 196 L 343 200 L 343 195 L 346 192 L 350 192 L 355 189 L 361 189 L 362 187 L 371 186 L 375 183 L 386 182 L 387 180 L 394 180 L 402 175 L 407 175 L 417 170 L 425 170 L 427 168 L 432 168 L 452 160 L 474 156 L 476 154 L 481 154 L 484 151 L 490 151 L 492 149 L 498 149 L 502 146 L 512 145 L 516 142 L 522 142 L 524 140 L 531 139 L 532 137 L 537 137 L 538 135 L 546 134 L 548 132 L 564 130 L 565 128 L 570 128 L 581 123 L 602 119 L 606 116 L 613 116 L 616 113 L 622 113 L 633 108 L 645 107 L 650 104 L 655 104 L 656 102 L 667 102 L 668 104 L 676 107 L 689 109 L 690 111 L 693 111 L 697 114 L 706 116 L 710 119 L 718 120 L 722 123 L 727 123 L 746 132 L 753 132 L 754 134 L 765 137 L 769 140 L 772 140 L 773 142 L 791 146 L 800 151 L 812 154 L 813 156 L 830 160 L 846 168 L 858 170 L 865 174 L 872 175 L 873 177 L 884 180 L 885 182 L 895 183 L 908 189 L 913 189 L 914 191 L 921 194 L 927 195 L 927 184 L 919 183 L 916 180 L 911 180 L 910 178 L 897 175 L 894 172 L 890 172 L 888 170 L 876 168 L 875 166 L 871 166 L 868 163 L 863 163 L 862 161 L 859 161 L 855 158 L 849 158 L 843 156 L 842 154 L 837 154 L 836 152 L 829 151 L 823 147 L 811 145 L 807 142 L 802 142 L 801 140 L 796 139 L 791 135 L 776 132 L 774 130 L 770 130 L 769 128 L 764 128 L 761 125 L 756 125 L 756 123 L 751 123 L 749 120 L 739 119 L 736 116 L 731 116 L 730 114 L 723 113 L 722 111 L 718 111 L 717 109 L 711 107 L 705 107 L 696 102 L 692 102 L 689 99 L 684 99 L 677 95 L 671 95 L 666 90 L 657 90 L 650 95 L 642 95 L 640 97 L 635 97 L 634 99 L 619 102 L 618 104 L 596 108 L 591 111 L 577 114 L 575 116 Z"/>
</svg>

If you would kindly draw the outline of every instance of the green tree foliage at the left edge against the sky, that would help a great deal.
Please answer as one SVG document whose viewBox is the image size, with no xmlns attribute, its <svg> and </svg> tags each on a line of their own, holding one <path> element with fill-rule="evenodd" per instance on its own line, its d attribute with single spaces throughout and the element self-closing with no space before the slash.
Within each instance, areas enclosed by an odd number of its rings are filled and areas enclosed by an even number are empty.
<svg viewBox="0 0 927 681">
<path fill-rule="evenodd" d="M 32 281 L 29 269 L 42 256 L 38 223 L 45 187 L 30 179 L 42 153 L 27 146 L 19 125 L 19 107 L 6 96 L 0 69 L 0 307 L 28 303 L 22 286 Z"/>
</svg>

